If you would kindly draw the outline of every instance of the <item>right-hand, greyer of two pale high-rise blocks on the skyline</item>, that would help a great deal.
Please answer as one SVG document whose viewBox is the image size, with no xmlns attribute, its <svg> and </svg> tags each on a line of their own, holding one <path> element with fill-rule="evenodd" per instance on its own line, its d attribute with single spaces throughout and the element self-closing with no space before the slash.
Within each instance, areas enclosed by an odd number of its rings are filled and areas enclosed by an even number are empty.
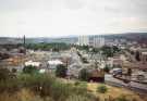
<svg viewBox="0 0 147 101">
<path fill-rule="evenodd" d="M 94 37 L 94 42 L 93 42 L 93 46 L 95 48 L 100 48 L 102 46 L 105 46 L 105 38 L 103 37 Z"/>
</svg>

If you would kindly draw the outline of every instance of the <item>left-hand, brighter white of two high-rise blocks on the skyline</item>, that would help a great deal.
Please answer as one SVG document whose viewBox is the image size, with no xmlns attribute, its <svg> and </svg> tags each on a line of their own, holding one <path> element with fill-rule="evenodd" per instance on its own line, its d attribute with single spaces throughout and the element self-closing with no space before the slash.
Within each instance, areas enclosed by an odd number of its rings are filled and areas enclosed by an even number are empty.
<svg viewBox="0 0 147 101">
<path fill-rule="evenodd" d="M 89 45 L 89 37 L 88 36 L 79 36 L 77 45 L 79 45 L 79 46 L 88 46 Z"/>
</svg>

